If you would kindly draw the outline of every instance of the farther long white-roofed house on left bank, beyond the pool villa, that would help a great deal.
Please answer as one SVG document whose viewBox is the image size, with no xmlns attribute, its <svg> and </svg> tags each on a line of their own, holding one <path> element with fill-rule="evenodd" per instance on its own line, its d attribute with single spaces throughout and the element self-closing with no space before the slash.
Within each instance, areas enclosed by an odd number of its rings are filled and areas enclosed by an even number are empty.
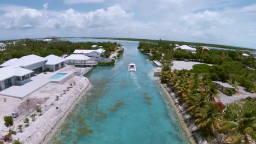
<svg viewBox="0 0 256 144">
<path fill-rule="evenodd" d="M 101 57 L 105 54 L 105 50 L 97 49 L 97 50 L 75 50 L 74 54 L 82 54 L 88 57 Z"/>
</svg>

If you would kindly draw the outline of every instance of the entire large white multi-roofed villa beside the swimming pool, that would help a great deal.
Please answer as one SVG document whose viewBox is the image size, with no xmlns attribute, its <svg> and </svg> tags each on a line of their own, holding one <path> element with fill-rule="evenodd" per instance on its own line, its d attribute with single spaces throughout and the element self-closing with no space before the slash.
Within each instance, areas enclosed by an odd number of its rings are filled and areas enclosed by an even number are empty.
<svg viewBox="0 0 256 144">
<path fill-rule="evenodd" d="M 0 90 L 13 85 L 23 85 L 30 81 L 30 77 L 42 73 L 44 70 L 55 71 L 65 67 L 66 59 L 49 55 L 45 58 L 28 55 L 21 58 L 9 59 L 0 65 Z"/>
</svg>

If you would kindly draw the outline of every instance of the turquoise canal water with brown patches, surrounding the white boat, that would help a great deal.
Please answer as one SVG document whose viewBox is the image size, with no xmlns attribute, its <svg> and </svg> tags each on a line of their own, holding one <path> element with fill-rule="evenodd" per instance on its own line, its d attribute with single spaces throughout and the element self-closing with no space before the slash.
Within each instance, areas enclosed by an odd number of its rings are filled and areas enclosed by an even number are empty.
<svg viewBox="0 0 256 144">
<path fill-rule="evenodd" d="M 50 143 L 189 143 L 153 77 L 156 66 L 125 44 L 115 66 L 95 67 L 86 75 L 92 86 Z M 135 63 L 136 73 L 127 65 Z"/>
</svg>

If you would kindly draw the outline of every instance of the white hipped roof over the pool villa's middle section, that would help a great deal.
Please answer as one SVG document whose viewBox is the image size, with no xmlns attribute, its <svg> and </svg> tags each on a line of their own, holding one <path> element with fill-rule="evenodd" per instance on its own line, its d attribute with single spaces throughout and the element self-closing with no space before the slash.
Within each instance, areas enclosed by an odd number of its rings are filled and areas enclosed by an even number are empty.
<svg viewBox="0 0 256 144">
<path fill-rule="evenodd" d="M 47 59 L 43 57 L 39 57 L 37 55 L 28 55 L 28 56 L 21 57 L 8 65 L 19 65 L 20 67 L 26 67 L 28 65 L 43 62 L 43 61 L 47 61 Z"/>
</svg>

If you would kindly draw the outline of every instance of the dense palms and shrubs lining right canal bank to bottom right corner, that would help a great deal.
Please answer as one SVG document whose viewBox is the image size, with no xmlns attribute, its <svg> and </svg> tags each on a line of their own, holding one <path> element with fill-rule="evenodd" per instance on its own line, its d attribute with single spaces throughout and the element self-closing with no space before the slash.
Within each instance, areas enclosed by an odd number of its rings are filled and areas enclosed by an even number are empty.
<svg viewBox="0 0 256 144">
<path fill-rule="evenodd" d="M 162 71 L 161 82 L 176 93 L 179 104 L 185 107 L 197 126 L 196 130 L 203 135 L 223 133 L 224 142 L 231 143 L 255 141 L 255 98 L 224 106 L 216 101 L 219 97 L 211 79 L 190 70 Z"/>
</svg>

